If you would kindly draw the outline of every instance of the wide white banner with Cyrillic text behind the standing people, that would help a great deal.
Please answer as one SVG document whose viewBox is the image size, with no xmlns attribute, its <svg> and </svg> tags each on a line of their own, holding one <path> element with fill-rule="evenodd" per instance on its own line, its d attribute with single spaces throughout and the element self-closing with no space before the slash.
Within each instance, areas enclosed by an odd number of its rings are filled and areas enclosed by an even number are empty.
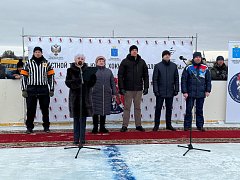
<svg viewBox="0 0 240 180">
<path fill-rule="evenodd" d="M 44 57 L 52 62 L 55 68 L 55 95 L 51 98 L 50 121 L 63 122 L 71 121 L 68 112 L 68 92 L 64 80 L 67 68 L 74 61 L 76 54 L 84 54 L 86 63 L 89 66 L 95 66 L 95 59 L 102 55 L 107 59 L 107 67 L 113 71 L 117 77 L 118 67 L 121 60 L 129 53 L 129 47 L 132 44 L 138 46 L 139 55 L 146 61 L 149 68 L 149 79 L 152 81 L 154 65 L 162 60 L 162 51 L 169 50 L 172 53 L 172 62 L 178 65 L 179 75 L 181 77 L 185 64 L 179 60 L 179 56 L 187 59 L 192 58 L 193 44 L 191 40 L 163 40 L 152 38 L 74 38 L 74 37 L 27 37 L 29 58 L 32 57 L 32 51 L 35 46 L 43 49 Z M 155 111 L 155 96 L 150 83 L 149 94 L 142 99 L 142 120 L 153 121 Z M 179 93 L 173 102 L 173 120 L 183 120 L 185 113 L 185 101 Z M 133 120 L 133 110 L 131 111 L 131 120 Z M 122 114 L 107 116 L 109 120 L 121 120 Z M 165 119 L 165 106 L 162 109 L 161 119 Z M 39 107 L 37 110 L 36 121 L 41 121 Z"/>
</svg>

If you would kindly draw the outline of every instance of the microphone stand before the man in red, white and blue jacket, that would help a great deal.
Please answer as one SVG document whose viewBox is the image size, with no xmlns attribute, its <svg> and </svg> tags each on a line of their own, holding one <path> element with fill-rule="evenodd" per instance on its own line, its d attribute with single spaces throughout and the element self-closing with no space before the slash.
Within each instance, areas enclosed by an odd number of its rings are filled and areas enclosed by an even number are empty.
<svg viewBox="0 0 240 180">
<path fill-rule="evenodd" d="M 180 56 L 181 57 L 181 56 Z M 185 59 L 183 58 L 180 58 L 184 64 L 187 66 L 187 63 L 185 61 Z M 191 70 L 192 74 L 193 74 L 193 77 L 197 79 L 198 82 L 200 82 L 200 79 L 197 77 L 196 74 L 193 73 L 193 71 Z M 187 97 L 187 98 L 190 98 L 190 106 L 192 107 L 192 102 L 193 100 L 191 99 L 191 97 Z M 196 106 L 195 106 L 195 112 L 194 112 L 194 117 L 195 117 L 195 114 L 196 114 Z M 193 117 L 193 116 L 192 116 Z M 195 119 L 195 118 L 194 118 Z M 192 119 L 193 120 L 193 119 Z M 199 149 L 199 148 L 194 148 L 193 145 L 192 145 L 192 122 L 191 122 L 191 126 L 190 126 L 190 136 L 189 136 L 189 144 L 187 146 L 182 146 L 182 145 L 178 145 L 178 147 L 181 147 L 181 148 L 187 148 L 187 151 L 183 154 L 183 156 L 185 156 L 190 150 L 199 150 L 199 151 L 206 151 L 206 152 L 211 152 L 210 150 L 206 150 L 206 149 Z"/>
</svg>

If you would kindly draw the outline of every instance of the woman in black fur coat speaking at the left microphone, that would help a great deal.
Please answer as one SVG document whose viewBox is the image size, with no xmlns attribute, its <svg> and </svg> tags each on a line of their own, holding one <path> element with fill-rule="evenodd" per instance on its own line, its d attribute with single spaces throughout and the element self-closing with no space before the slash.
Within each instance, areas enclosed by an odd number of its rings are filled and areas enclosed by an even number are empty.
<svg viewBox="0 0 240 180">
<path fill-rule="evenodd" d="M 74 61 L 71 67 L 67 69 L 65 84 L 70 88 L 69 112 L 70 117 L 74 119 L 74 144 L 79 144 L 80 141 L 80 144 L 84 144 L 86 119 L 93 115 L 90 89 L 96 82 L 95 73 L 97 69 L 87 67 L 85 57 L 81 54 L 76 55 Z M 81 112 L 80 101 L 82 102 Z"/>
</svg>

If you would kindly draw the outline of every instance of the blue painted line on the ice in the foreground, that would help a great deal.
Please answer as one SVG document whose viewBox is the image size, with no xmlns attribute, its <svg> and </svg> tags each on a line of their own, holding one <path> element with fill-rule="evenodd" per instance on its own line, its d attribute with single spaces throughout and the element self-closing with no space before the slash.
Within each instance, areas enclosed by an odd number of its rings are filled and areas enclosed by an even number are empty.
<svg viewBox="0 0 240 180">
<path fill-rule="evenodd" d="M 108 162 L 112 167 L 115 180 L 136 180 L 116 146 L 107 146 L 104 148 L 104 153 L 108 157 Z"/>
</svg>

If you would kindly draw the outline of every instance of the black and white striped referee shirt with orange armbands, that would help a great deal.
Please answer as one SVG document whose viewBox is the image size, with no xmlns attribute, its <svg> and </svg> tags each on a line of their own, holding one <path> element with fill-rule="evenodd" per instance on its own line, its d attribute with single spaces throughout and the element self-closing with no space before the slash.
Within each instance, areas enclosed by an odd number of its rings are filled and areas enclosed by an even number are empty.
<svg viewBox="0 0 240 180">
<path fill-rule="evenodd" d="M 50 62 L 43 59 L 39 64 L 34 59 L 28 60 L 22 71 L 22 90 L 28 85 L 48 85 L 50 91 L 54 90 L 54 70 Z"/>
</svg>

